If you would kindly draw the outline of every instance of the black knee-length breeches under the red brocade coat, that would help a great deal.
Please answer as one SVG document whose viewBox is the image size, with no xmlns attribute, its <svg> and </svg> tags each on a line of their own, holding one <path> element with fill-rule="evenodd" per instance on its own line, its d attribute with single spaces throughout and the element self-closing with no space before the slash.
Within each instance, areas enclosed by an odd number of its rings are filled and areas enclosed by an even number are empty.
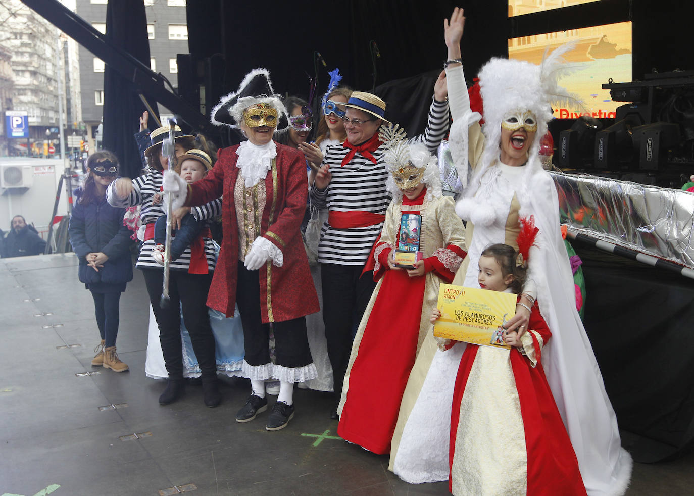
<svg viewBox="0 0 694 496">
<path fill-rule="evenodd" d="M 281 298 L 282 295 L 278 295 Z M 270 363 L 270 325 L 262 323 L 260 314 L 260 271 L 248 271 L 239 262 L 236 302 L 244 326 L 244 359 L 251 366 Z M 311 364 L 311 349 L 306 336 L 306 318 L 273 322 L 275 363 L 287 368 Z"/>
</svg>

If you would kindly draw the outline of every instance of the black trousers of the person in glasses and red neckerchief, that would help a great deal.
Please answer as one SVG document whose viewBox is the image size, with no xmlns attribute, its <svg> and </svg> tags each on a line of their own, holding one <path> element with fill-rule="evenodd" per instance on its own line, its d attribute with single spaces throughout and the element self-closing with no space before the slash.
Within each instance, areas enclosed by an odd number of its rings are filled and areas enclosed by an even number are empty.
<svg viewBox="0 0 694 496">
<path fill-rule="evenodd" d="M 323 323 L 338 401 L 352 351 L 352 330 L 362 321 L 376 287 L 372 271 L 359 277 L 363 269 L 354 265 L 321 264 Z"/>
</svg>

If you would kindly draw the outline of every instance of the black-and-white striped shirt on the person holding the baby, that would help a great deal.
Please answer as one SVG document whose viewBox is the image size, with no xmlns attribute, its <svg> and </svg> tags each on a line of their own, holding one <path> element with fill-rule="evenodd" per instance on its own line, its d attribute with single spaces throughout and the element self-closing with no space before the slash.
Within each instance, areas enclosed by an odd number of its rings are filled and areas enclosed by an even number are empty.
<svg viewBox="0 0 694 496">
<path fill-rule="evenodd" d="M 115 185 L 114 181 L 106 190 L 106 199 L 110 205 L 119 208 L 141 205 L 139 216 L 140 219 L 142 219 L 142 224 L 154 223 L 160 216 L 165 214 L 163 203 L 158 205 L 152 203 L 153 196 L 161 192 L 163 178 L 164 176 L 162 176 L 161 171 L 150 169 L 148 173 L 132 180 L 133 191 L 130 192 L 128 198 L 122 199 L 115 195 L 113 189 L 113 185 Z M 192 207 L 190 213 L 198 221 L 213 219 L 215 216 L 221 214 L 221 199 L 214 200 L 202 207 Z M 214 266 L 217 263 L 214 244 L 212 243 L 212 239 L 209 238 L 203 238 L 203 241 L 205 241 L 205 258 L 208 261 L 208 271 L 214 271 Z M 137 264 L 135 264 L 137 268 L 162 268 L 162 266 L 152 258 L 154 246 L 155 243 L 153 239 L 142 242 L 142 246 L 140 246 L 139 249 L 139 256 L 137 257 Z M 185 248 L 185 251 L 180 257 L 171 261 L 171 270 L 188 271 L 189 264 L 190 246 Z"/>
</svg>

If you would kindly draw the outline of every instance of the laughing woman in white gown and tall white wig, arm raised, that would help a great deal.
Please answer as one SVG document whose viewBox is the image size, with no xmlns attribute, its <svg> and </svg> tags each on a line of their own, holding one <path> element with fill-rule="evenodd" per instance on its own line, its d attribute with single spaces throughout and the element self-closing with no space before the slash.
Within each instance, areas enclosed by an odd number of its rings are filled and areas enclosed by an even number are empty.
<svg viewBox="0 0 694 496">
<path fill-rule="evenodd" d="M 552 119 L 550 103 L 571 98 L 557 85 L 557 78 L 567 69 L 561 54 L 570 47 L 554 51 L 539 66 L 496 58 L 484 65 L 479 75 L 485 122 L 481 128 L 481 116 L 471 111 L 464 82 L 460 58 L 463 26 L 459 8 L 450 23 L 444 22 L 453 118 L 450 149 L 466 185 L 456 212 L 467 223 L 468 257 L 453 284 L 479 287 L 477 261 L 482 250 L 491 243 L 516 247 L 518 216 L 534 215 L 540 232 L 530 257 L 534 284 L 530 289 L 526 284 L 523 294 L 530 300 L 537 298 L 552 331 L 552 341 L 543 350 L 548 383 L 587 493 L 623 495 L 631 478 L 632 459 L 620 447 L 616 416 L 576 311 L 570 264 L 559 232 L 557 191 L 542 169 L 539 139 L 535 139 L 545 134 Z M 524 300 L 520 302 L 525 305 Z M 523 305 L 517 314 L 524 310 Z M 521 325 L 518 329 L 525 331 Z M 409 482 L 448 479 L 452 381 L 463 350 L 459 343 L 440 351 L 430 333 L 410 374 L 389 466 Z"/>
</svg>

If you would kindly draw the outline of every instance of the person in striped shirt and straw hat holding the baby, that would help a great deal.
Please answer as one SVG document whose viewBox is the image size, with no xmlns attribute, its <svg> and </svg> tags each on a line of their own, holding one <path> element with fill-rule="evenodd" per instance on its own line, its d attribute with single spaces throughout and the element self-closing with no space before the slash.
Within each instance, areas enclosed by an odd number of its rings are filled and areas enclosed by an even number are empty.
<svg viewBox="0 0 694 496">
<path fill-rule="evenodd" d="M 188 246 L 170 264 L 169 296 L 170 305 L 160 306 L 164 272 L 152 257 L 154 253 L 154 227 L 160 216 L 164 215 L 163 203 L 155 201 L 162 191 L 162 170 L 169 166 L 169 157 L 162 152 L 162 143 L 169 137 L 169 126 L 151 132 L 151 146 L 146 148 L 148 169 L 139 178 L 119 178 L 111 183 L 106 191 L 108 203 L 115 207 L 141 205 L 140 217 L 144 225 L 142 246 L 137 257 L 137 268 L 142 270 L 149 300 L 159 328 L 159 341 L 167 370 L 167 387 L 159 397 L 160 404 L 169 404 L 183 395 L 183 351 L 180 335 L 180 314 L 183 307 L 183 320 L 190 334 L 198 364 L 201 368 L 204 402 L 208 407 L 217 407 L 221 401 L 217 384 L 217 364 L 214 357 L 214 336 L 210 327 L 208 307 L 205 305 L 210 280 L 215 266 L 214 243 L 210 237 L 203 237 L 198 270 L 191 273 L 192 252 Z M 176 141 L 175 155 L 180 157 L 193 148 L 195 137 L 184 135 L 178 126 L 174 127 Z M 210 207 L 208 210 L 213 211 Z M 217 207 L 217 210 L 219 208 Z"/>
</svg>

